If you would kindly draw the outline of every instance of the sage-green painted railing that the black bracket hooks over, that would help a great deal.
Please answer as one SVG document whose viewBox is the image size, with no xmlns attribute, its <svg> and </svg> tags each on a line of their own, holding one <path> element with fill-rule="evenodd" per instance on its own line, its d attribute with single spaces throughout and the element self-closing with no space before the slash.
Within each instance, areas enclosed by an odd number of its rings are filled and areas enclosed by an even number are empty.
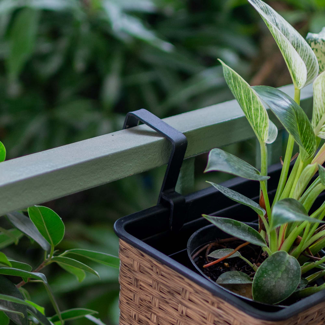
<svg viewBox="0 0 325 325">
<path fill-rule="evenodd" d="M 280 89 L 293 97 L 292 85 Z M 302 90 L 301 106 L 311 116 L 311 86 Z M 280 127 L 274 116 L 271 119 Z M 164 121 L 187 136 L 185 158 L 254 136 L 235 100 Z M 270 161 L 279 159 L 281 137 L 278 138 L 274 149 L 270 147 Z M 165 138 L 146 125 L 139 125 L 2 162 L 0 215 L 162 166 L 168 162 L 169 154 L 170 144 Z M 180 183 L 191 178 L 186 174 L 192 163 L 193 159 L 184 161 Z"/>
</svg>

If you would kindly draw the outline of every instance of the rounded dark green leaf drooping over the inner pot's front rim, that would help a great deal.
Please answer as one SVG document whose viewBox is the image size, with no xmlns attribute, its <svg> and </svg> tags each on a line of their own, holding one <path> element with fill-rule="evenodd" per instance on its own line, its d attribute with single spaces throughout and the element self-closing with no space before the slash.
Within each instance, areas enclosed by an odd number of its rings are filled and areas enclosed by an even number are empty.
<svg viewBox="0 0 325 325">
<path fill-rule="evenodd" d="M 301 271 L 298 261 L 287 252 L 277 251 L 259 266 L 253 279 L 253 299 L 276 304 L 298 287 Z"/>
</svg>

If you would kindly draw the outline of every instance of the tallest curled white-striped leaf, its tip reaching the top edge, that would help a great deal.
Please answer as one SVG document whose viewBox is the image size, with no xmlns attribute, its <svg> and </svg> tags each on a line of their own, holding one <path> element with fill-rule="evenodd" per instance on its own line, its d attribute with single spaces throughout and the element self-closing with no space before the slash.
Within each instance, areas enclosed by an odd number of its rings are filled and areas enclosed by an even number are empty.
<svg viewBox="0 0 325 325">
<path fill-rule="evenodd" d="M 301 89 L 318 75 L 318 61 L 305 39 L 262 0 L 248 0 L 257 10 L 277 42 L 295 88 Z"/>
</svg>

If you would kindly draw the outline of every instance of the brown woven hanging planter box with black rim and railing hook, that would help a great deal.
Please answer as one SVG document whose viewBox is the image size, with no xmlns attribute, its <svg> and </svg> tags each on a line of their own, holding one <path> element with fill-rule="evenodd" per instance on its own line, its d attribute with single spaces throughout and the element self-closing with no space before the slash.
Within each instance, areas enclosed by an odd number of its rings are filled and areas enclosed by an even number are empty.
<svg viewBox="0 0 325 325">
<path fill-rule="evenodd" d="M 249 208 L 233 205 L 214 188 L 185 197 L 175 192 L 186 139 L 146 110 L 129 113 L 124 127 L 138 120 L 174 143 L 158 204 L 119 219 L 120 325 L 321 325 L 325 290 L 281 306 L 247 302 L 198 274 L 187 257 L 188 238 L 208 224 L 202 213 L 253 221 Z M 179 146 L 179 148 L 178 148 Z M 175 156 L 176 155 L 176 156 Z M 178 156 L 177 156 L 178 155 Z M 175 158 L 176 157 L 176 158 Z M 269 190 L 276 188 L 280 165 L 271 166 Z M 253 198 L 258 184 L 234 178 L 225 184 Z M 247 214 L 246 214 L 247 212 Z"/>
</svg>

